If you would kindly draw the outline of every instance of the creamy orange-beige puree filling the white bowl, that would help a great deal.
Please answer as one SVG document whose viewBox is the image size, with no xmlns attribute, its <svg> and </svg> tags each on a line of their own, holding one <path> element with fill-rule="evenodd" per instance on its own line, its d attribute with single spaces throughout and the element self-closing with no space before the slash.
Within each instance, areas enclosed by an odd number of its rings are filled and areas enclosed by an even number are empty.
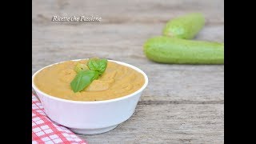
<svg viewBox="0 0 256 144">
<path fill-rule="evenodd" d="M 86 63 L 86 60 L 79 61 Z M 139 90 L 145 83 L 144 76 L 137 70 L 116 62 L 108 62 L 106 71 L 100 78 L 81 92 L 74 93 L 70 82 L 76 72 L 78 62 L 66 61 L 41 70 L 34 77 L 34 84 L 39 90 L 57 98 L 74 101 L 102 101 L 119 98 Z"/>
</svg>

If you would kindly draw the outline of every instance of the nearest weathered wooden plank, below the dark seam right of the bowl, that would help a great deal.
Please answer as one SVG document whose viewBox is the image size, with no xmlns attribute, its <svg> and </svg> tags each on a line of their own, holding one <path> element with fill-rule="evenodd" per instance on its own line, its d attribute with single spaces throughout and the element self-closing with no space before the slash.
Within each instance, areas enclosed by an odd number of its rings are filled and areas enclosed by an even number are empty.
<svg viewBox="0 0 256 144">
<path fill-rule="evenodd" d="M 222 104 L 138 105 L 134 115 L 89 143 L 223 143 Z"/>
</svg>

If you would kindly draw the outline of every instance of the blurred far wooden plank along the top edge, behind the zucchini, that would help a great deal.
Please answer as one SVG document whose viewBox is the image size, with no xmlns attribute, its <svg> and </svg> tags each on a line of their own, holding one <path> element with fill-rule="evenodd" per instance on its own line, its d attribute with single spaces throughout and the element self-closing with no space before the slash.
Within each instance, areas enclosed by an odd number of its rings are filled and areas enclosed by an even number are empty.
<svg viewBox="0 0 256 144">
<path fill-rule="evenodd" d="M 207 23 L 224 22 L 223 0 L 130 0 L 130 1 L 92 1 L 92 0 L 58 0 L 32 1 L 33 22 L 52 24 L 54 15 L 59 16 L 98 16 L 102 23 L 152 23 L 166 22 L 179 14 L 202 12 L 206 14 Z M 82 25 L 84 23 L 77 23 Z"/>
</svg>

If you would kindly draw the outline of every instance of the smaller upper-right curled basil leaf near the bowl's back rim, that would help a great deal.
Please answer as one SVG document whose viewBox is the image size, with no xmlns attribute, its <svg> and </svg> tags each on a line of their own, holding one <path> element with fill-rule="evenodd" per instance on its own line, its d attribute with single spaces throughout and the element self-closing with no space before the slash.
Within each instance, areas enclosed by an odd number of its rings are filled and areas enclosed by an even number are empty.
<svg viewBox="0 0 256 144">
<path fill-rule="evenodd" d="M 90 70 L 98 71 L 98 73 L 102 75 L 106 70 L 107 60 L 106 58 L 90 58 L 87 63 L 87 66 Z"/>
</svg>

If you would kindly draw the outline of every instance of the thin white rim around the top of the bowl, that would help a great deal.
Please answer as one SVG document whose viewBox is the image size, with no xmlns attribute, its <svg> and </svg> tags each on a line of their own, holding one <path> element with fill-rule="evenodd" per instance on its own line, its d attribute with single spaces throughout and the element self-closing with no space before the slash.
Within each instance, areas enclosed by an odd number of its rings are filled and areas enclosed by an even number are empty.
<svg viewBox="0 0 256 144">
<path fill-rule="evenodd" d="M 89 58 L 66 60 L 66 61 L 62 61 L 62 62 L 81 61 L 81 60 L 87 60 L 87 59 L 89 59 Z M 51 99 L 54 99 L 54 100 L 58 100 L 58 101 L 61 101 L 61 102 L 83 103 L 83 104 L 96 104 L 96 103 L 106 103 L 106 102 L 117 102 L 117 101 L 121 101 L 121 100 L 124 100 L 124 99 L 127 99 L 127 98 L 130 98 L 130 97 L 135 96 L 136 94 L 142 92 L 142 90 L 144 90 L 144 89 L 146 88 L 146 86 L 147 86 L 147 84 L 148 84 L 148 81 L 149 81 L 149 80 L 148 80 L 148 77 L 147 77 L 147 75 L 146 75 L 142 70 L 140 70 L 138 67 L 132 66 L 132 65 L 126 63 L 126 62 L 119 62 L 119 61 L 114 61 L 114 60 L 108 60 L 108 61 L 110 61 L 110 62 L 116 62 L 116 63 L 118 63 L 118 64 L 120 64 L 120 65 L 122 65 L 122 66 L 128 66 L 128 67 L 132 68 L 133 70 L 136 70 L 136 71 L 138 71 L 139 73 L 141 73 L 141 74 L 144 76 L 144 78 L 145 78 L 145 82 L 144 82 L 143 86 L 142 86 L 140 89 L 134 91 L 134 93 L 132 93 L 132 94 L 124 95 L 124 96 L 119 97 L 119 98 L 113 98 L 113 99 L 108 99 L 108 100 L 102 100 L 102 101 L 74 101 L 74 100 L 69 100 L 69 99 L 64 99 L 64 98 L 57 98 L 57 97 L 54 97 L 54 96 L 52 96 L 52 95 L 50 95 L 50 94 L 46 94 L 46 93 L 42 92 L 42 90 L 39 90 L 38 87 L 35 86 L 35 84 L 34 84 L 34 77 L 36 76 L 36 74 L 38 74 L 40 71 L 42 71 L 42 70 L 45 69 L 46 67 L 50 67 L 50 66 L 54 66 L 54 65 L 57 65 L 57 64 L 59 64 L 59 63 L 62 63 L 62 62 L 56 62 L 56 63 L 54 63 L 54 64 L 51 64 L 51 65 L 48 65 L 48 66 L 43 67 L 42 69 L 36 71 L 36 72 L 32 75 L 32 87 L 33 87 L 33 89 L 36 91 L 36 93 L 40 93 L 40 94 L 42 94 L 43 96 L 46 96 L 46 97 L 48 97 L 48 98 L 51 98 Z"/>
</svg>

